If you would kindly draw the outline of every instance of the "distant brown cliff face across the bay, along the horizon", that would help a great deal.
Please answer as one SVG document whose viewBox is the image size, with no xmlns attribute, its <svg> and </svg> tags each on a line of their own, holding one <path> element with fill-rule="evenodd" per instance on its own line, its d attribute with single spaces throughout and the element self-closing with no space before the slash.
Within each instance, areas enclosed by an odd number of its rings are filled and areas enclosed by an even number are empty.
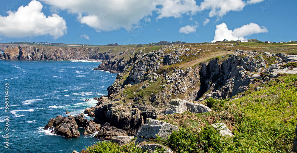
<svg viewBox="0 0 297 153">
<path fill-rule="evenodd" d="M 109 60 L 110 52 L 98 53 L 98 48 L 59 48 L 47 46 L 10 47 L 5 49 L 5 60 Z"/>
</svg>

